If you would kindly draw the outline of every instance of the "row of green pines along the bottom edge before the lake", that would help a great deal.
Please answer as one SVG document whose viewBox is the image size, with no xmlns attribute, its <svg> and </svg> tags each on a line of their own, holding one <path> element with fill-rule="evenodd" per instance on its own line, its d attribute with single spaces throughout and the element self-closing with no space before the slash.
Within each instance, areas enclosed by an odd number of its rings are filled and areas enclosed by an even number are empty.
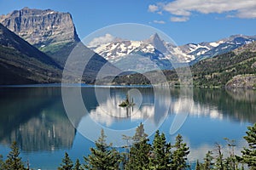
<svg viewBox="0 0 256 170">
<path fill-rule="evenodd" d="M 141 123 L 133 137 L 126 137 L 125 139 L 132 139 L 128 155 L 124 154 L 122 158 L 120 153 L 113 149 L 112 144 L 106 143 L 107 136 L 102 130 L 101 136 L 96 141 L 96 148 L 90 148 L 91 154 L 84 157 L 85 164 L 81 165 L 79 159 L 73 165 L 73 161 L 69 158 L 67 152 L 62 159 L 60 170 L 183 170 L 188 169 L 187 156 L 189 155 L 189 147 L 183 143 L 183 138 L 180 134 L 176 137 L 174 145 L 166 142 L 164 133 L 156 131 L 152 146 L 148 144 L 148 135 L 145 133 L 143 124 Z M 224 157 L 222 153 L 222 146 L 216 144 L 216 155 L 213 156 L 212 151 L 208 151 L 204 161 L 196 161 L 196 170 L 238 170 L 244 169 L 243 164 L 247 164 L 250 169 L 256 167 L 256 123 L 253 127 L 248 127 L 247 136 L 248 148 L 241 151 L 242 156 L 236 156 L 235 140 L 225 139 L 226 146 L 229 148 L 229 155 Z M 18 145 L 14 142 L 11 145 L 11 151 L 7 156 L 7 160 L 3 161 L 3 156 L 0 155 L 0 169 L 6 170 L 26 170 L 24 164 L 19 157 L 20 151 Z M 122 162 L 121 162 L 122 161 Z M 122 163 L 122 164 L 121 164 Z M 123 165 L 123 166 L 121 166 Z"/>
</svg>

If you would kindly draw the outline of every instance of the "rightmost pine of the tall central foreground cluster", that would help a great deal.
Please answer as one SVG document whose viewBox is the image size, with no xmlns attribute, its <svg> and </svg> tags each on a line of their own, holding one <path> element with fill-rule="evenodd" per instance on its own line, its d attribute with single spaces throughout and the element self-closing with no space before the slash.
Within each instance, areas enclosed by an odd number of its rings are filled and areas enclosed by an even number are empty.
<svg viewBox="0 0 256 170">
<path fill-rule="evenodd" d="M 187 156 L 189 155 L 189 147 L 183 143 L 183 138 L 180 134 L 176 137 L 176 143 L 172 146 L 174 148 L 172 152 L 171 168 L 176 170 L 182 170 L 189 167 L 187 165 Z"/>
</svg>

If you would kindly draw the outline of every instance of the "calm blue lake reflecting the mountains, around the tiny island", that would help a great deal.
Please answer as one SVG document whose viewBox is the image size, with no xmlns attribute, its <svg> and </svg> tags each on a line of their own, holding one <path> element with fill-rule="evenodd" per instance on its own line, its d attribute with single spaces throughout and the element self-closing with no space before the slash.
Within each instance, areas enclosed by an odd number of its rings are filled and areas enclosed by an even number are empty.
<svg viewBox="0 0 256 170">
<path fill-rule="evenodd" d="M 13 141 L 23 161 L 34 169 L 56 169 L 64 152 L 75 161 L 90 153 L 103 128 L 108 142 L 122 146 L 140 122 L 152 141 L 156 129 L 173 141 L 182 134 L 189 161 L 202 160 L 214 144 L 236 139 L 236 153 L 246 141 L 247 126 L 256 122 L 256 91 L 150 87 L 2 87 L 0 88 L 0 154 Z M 79 94 L 82 104 L 80 105 Z M 118 105 L 129 94 L 135 105 Z M 64 104 L 63 104 L 64 101 Z M 121 149 L 120 149 L 121 150 Z M 224 147 L 224 152 L 228 149 Z"/>
</svg>

